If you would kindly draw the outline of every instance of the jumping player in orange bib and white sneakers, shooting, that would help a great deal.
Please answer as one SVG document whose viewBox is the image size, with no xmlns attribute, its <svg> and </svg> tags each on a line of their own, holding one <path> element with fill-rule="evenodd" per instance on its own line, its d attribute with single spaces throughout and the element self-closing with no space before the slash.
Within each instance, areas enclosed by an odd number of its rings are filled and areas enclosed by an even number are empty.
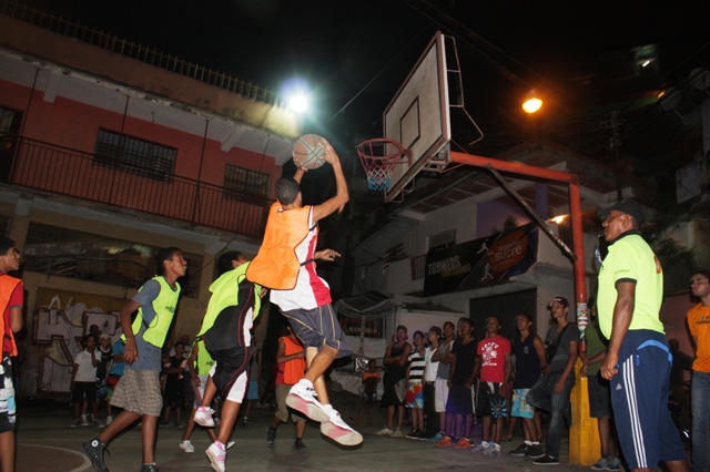
<svg viewBox="0 0 710 472">
<path fill-rule="evenodd" d="M 321 140 L 324 160 L 335 173 L 336 195 L 321 205 L 303 206 L 300 184 L 305 170 L 300 167 L 293 178 L 280 178 L 278 202 L 268 212 L 264 242 L 246 277 L 272 289 L 271 301 L 278 306 L 306 348 L 305 377 L 291 389 L 286 404 L 321 422 L 321 432 L 339 444 L 357 445 L 363 437 L 329 403 L 323 380 L 331 362 L 349 356 L 352 349 L 331 305 L 329 287 L 315 271 L 315 259 L 339 257 L 333 249 L 315 250 L 317 222 L 342 211 L 349 199 L 341 161 L 333 146 Z"/>
</svg>

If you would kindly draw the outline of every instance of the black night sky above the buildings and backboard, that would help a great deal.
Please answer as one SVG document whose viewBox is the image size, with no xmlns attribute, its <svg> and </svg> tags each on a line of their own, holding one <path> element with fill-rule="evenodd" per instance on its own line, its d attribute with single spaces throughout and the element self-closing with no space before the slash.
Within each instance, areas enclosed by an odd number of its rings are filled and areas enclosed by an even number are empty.
<svg viewBox="0 0 710 472">
<path fill-rule="evenodd" d="M 524 124 L 534 86 L 562 110 L 594 109 L 608 90 L 580 78 L 604 53 L 659 44 L 648 88 L 710 65 L 707 1 L 29 1 L 271 90 L 301 78 L 314 91 L 305 131 L 349 147 L 382 134 L 382 111 L 437 30 L 456 37 L 466 106 L 487 135 Z"/>
</svg>

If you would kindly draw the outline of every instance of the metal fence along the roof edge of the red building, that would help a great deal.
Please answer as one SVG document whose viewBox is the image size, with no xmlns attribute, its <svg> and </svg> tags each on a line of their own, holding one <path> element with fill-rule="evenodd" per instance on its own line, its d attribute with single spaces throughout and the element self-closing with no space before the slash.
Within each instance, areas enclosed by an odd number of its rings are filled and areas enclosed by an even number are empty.
<svg viewBox="0 0 710 472">
<path fill-rule="evenodd" d="M 270 105 L 285 107 L 286 102 L 277 93 L 263 89 L 251 82 L 232 78 L 222 72 L 202 65 L 193 64 L 183 59 L 165 54 L 162 51 L 136 44 L 121 38 L 116 38 L 103 30 L 84 27 L 74 21 L 65 20 L 61 17 L 54 17 L 36 7 L 20 3 L 14 0 L 0 0 L 0 14 L 11 17 L 16 20 L 31 23 L 44 30 L 52 31 L 79 41 L 109 50 L 113 53 L 135 59 L 136 61 L 164 69 L 176 74 L 199 80 L 210 85 L 219 86 L 240 95 L 244 95 L 252 100 L 268 103 Z"/>
</svg>

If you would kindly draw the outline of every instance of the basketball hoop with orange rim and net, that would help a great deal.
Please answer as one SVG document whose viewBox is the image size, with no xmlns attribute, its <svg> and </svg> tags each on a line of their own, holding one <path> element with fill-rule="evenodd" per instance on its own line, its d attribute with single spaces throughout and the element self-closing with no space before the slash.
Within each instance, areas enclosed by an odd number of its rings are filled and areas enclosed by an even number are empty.
<svg viewBox="0 0 710 472">
<path fill-rule="evenodd" d="M 367 188 L 374 192 L 388 191 L 392 186 L 392 171 L 397 164 L 409 162 L 409 150 L 387 137 L 359 143 L 357 155 L 367 174 Z"/>
</svg>

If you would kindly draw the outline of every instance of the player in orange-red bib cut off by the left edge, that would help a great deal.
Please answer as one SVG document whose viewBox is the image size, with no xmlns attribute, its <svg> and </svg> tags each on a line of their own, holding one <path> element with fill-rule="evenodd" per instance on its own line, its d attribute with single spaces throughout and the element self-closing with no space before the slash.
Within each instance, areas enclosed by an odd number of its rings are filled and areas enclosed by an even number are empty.
<svg viewBox="0 0 710 472">
<path fill-rule="evenodd" d="M 14 471 L 14 387 L 11 356 L 18 355 L 13 332 L 22 329 L 24 289 L 22 280 L 9 276 L 20 268 L 14 242 L 0 238 L 0 470 Z"/>
</svg>

